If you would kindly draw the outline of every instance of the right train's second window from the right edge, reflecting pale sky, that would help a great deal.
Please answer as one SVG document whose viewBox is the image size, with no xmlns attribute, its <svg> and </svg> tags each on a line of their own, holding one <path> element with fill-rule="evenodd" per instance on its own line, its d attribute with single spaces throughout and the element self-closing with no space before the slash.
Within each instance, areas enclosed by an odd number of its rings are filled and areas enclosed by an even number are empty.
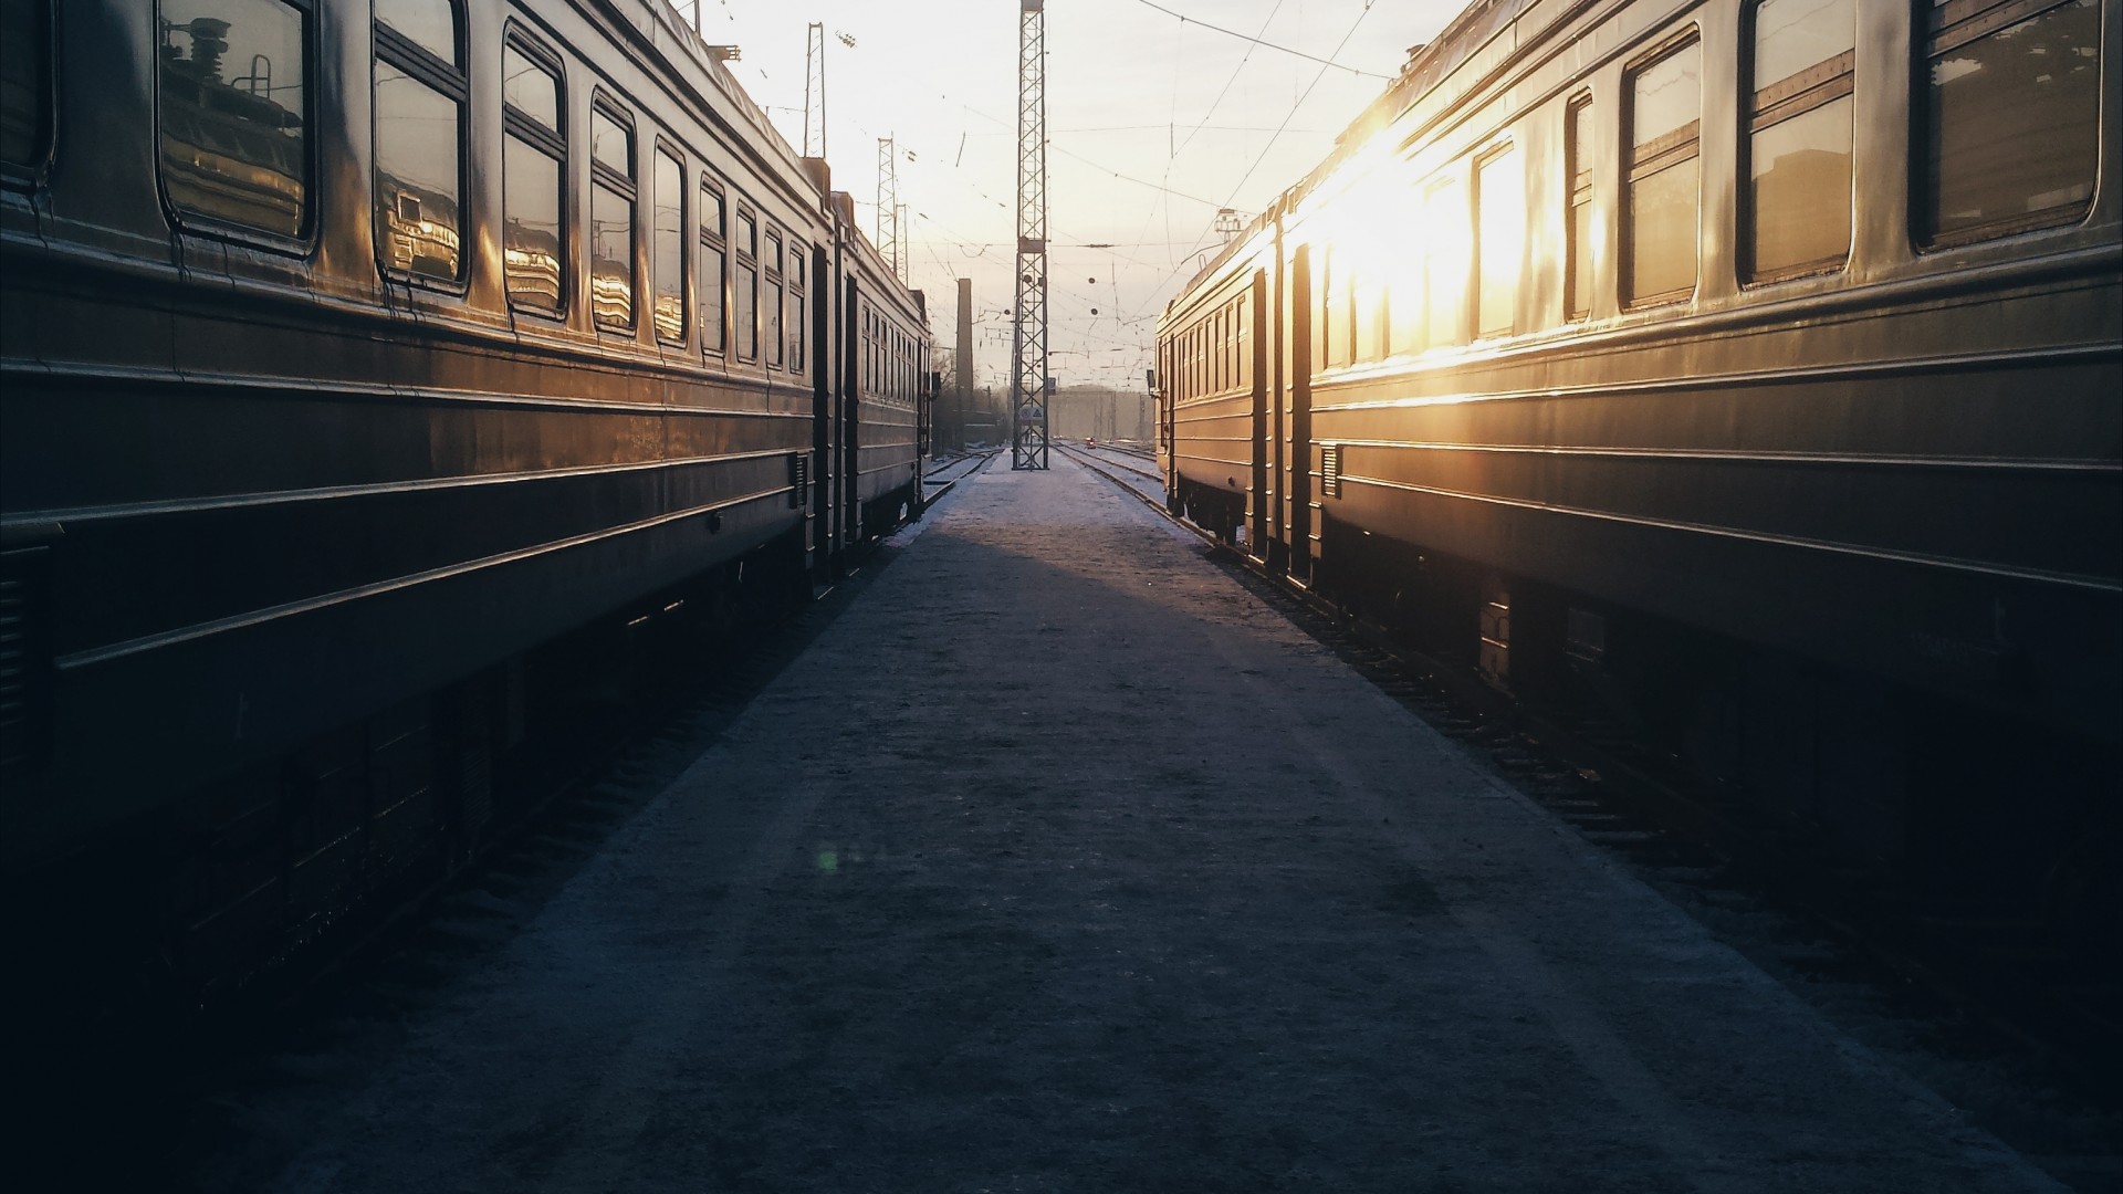
<svg viewBox="0 0 2123 1194">
<path fill-rule="evenodd" d="M 1856 0 L 1754 6 L 1749 185 L 1741 193 L 1747 280 L 1841 270 L 1851 253 Z"/>
</svg>

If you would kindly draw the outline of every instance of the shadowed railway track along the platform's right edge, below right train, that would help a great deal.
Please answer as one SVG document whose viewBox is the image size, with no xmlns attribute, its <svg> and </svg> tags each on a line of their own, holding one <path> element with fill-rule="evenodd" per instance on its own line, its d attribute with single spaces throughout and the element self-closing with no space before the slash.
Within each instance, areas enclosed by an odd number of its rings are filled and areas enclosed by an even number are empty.
<svg viewBox="0 0 2123 1194">
<path fill-rule="evenodd" d="M 2123 988 L 2087 943 L 2044 941 L 2023 922 L 1926 916 L 1892 880 L 1832 858 L 1805 831 L 1745 816 L 1745 805 L 1660 756 L 1594 712 L 1524 705 L 1471 667 L 1452 665 L 1350 620 L 1287 576 L 1166 508 L 1163 482 L 1138 455 L 1057 442 L 1064 455 L 1199 535 L 1250 586 L 1321 644 L 1442 733 L 1488 754 L 1497 771 L 1588 841 L 1624 856 L 1684 907 L 1758 905 L 1805 924 L 1802 960 L 1756 958 L 1800 982 L 1856 977 L 1970 1047 L 2032 1056 L 2078 1098 L 2115 1113 L 2123 1062 Z M 1822 950 L 1828 941 L 1834 948 Z M 1788 954 L 1794 954 L 1788 950 Z M 1981 1039 L 1981 1041 L 1977 1041 Z"/>
</svg>

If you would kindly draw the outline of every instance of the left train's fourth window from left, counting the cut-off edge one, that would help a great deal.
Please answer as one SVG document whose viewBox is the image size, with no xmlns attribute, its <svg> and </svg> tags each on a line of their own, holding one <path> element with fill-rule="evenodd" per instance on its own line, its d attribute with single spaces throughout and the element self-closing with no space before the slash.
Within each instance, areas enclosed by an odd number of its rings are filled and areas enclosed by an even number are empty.
<svg viewBox="0 0 2123 1194">
<path fill-rule="evenodd" d="M 514 36 L 501 47 L 501 272 L 510 306 L 558 314 L 563 295 L 560 210 L 567 127 L 560 68 Z"/>
</svg>

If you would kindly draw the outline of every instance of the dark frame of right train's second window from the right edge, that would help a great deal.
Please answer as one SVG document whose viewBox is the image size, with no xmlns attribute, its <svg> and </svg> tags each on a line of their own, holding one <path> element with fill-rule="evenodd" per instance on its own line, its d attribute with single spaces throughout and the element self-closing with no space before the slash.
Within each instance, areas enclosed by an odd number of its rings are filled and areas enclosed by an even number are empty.
<svg viewBox="0 0 2123 1194">
<path fill-rule="evenodd" d="M 1822 274 L 1841 274 L 1849 268 L 1851 246 L 1858 232 L 1856 215 L 1856 153 L 1858 153 L 1858 119 L 1856 108 L 1849 113 L 1849 161 L 1851 161 L 1851 183 L 1845 193 L 1849 217 L 1849 227 L 1843 238 L 1843 253 L 1809 257 L 1805 261 L 1792 261 L 1785 266 L 1775 266 L 1762 270 L 1756 266 L 1760 253 L 1760 202 L 1756 198 L 1754 178 L 1754 153 L 1756 138 L 1794 121 L 1817 113 L 1839 100 L 1853 96 L 1858 85 L 1858 4 L 1849 0 L 1851 15 L 1851 49 L 1839 53 L 1836 57 L 1826 57 L 1817 64 L 1788 74 L 1783 79 L 1773 79 L 1766 87 L 1756 79 L 1756 57 L 1760 53 L 1760 17 L 1762 8 L 1783 0 L 1747 0 L 1741 8 L 1741 34 L 1739 34 L 1739 136 L 1734 153 L 1739 155 L 1737 185 L 1732 187 L 1732 200 L 1739 217 L 1739 236 L 1734 236 L 1734 253 L 1739 257 L 1739 280 L 1743 287 L 1766 287 L 1777 283 L 1790 283 L 1796 278 L 1811 278 Z"/>
</svg>

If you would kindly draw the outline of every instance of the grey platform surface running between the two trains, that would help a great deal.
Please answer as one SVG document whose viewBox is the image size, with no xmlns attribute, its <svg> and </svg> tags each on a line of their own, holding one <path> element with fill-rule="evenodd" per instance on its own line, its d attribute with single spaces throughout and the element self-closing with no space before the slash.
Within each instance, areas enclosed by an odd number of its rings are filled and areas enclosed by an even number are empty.
<svg viewBox="0 0 2123 1194">
<path fill-rule="evenodd" d="M 272 1188 L 2055 1190 L 1062 455 L 917 531 Z"/>
</svg>

